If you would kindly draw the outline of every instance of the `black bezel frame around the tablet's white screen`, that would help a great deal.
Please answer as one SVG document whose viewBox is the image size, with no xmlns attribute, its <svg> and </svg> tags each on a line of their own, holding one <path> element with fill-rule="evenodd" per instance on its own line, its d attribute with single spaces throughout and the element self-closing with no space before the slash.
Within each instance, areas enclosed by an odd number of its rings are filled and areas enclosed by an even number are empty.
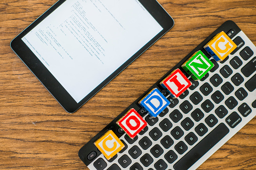
<svg viewBox="0 0 256 170">
<path fill-rule="evenodd" d="M 64 87 L 57 81 L 57 79 L 49 72 L 43 63 L 34 55 L 28 46 L 22 41 L 22 38 L 35 28 L 41 21 L 49 16 L 66 0 L 59 0 L 51 8 L 49 8 L 43 15 L 36 19 L 30 26 L 14 38 L 10 44 L 13 51 L 30 69 L 30 71 L 39 79 L 45 88 L 52 94 L 52 96 L 59 102 L 59 104 L 69 113 L 75 112 L 84 103 L 91 99 L 97 92 L 99 92 L 105 85 L 107 85 L 113 78 L 122 72 L 128 65 L 130 65 L 136 58 L 138 58 L 145 50 L 153 45 L 160 37 L 168 32 L 174 26 L 174 20 L 155 0 L 138 0 L 144 8 L 151 14 L 151 16 L 159 23 L 163 30 L 157 34 L 151 41 L 142 47 L 137 53 L 131 56 L 123 65 L 121 65 L 115 72 L 113 72 L 107 79 L 105 79 L 99 86 L 85 96 L 80 102 L 76 102 L 71 95 L 64 89 Z"/>
</svg>

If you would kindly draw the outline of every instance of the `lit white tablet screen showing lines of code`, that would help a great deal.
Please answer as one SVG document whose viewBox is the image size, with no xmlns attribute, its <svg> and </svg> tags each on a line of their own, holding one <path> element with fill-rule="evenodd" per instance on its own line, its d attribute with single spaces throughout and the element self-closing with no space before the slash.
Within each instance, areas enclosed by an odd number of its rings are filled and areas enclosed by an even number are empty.
<svg viewBox="0 0 256 170">
<path fill-rule="evenodd" d="M 67 0 L 22 41 L 78 103 L 162 30 L 137 0 Z"/>
</svg>

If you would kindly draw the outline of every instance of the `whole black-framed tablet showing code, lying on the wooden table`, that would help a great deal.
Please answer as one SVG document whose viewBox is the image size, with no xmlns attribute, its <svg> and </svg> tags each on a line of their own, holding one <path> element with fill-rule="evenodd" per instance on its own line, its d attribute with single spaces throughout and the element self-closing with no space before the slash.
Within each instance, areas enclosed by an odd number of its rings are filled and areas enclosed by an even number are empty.
<svg viewBox="0 0 256 170">
<path fill-rule="evenodd" d="M 60 0 L 11 48 L 73 113 L 173 26 L 155 0 Z"/>
</svg>

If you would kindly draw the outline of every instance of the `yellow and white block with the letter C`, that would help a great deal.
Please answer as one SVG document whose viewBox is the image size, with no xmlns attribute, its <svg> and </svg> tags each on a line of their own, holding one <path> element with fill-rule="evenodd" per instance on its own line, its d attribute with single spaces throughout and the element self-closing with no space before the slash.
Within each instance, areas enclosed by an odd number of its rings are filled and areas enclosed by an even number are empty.
<svg viewBox="0 0 256 170">
<path fill-rule="evenodd" d="M 122 141 L 112 130 L 105 133 L 94 144 L 108 160 L 125 147 Z"/>
</svg>

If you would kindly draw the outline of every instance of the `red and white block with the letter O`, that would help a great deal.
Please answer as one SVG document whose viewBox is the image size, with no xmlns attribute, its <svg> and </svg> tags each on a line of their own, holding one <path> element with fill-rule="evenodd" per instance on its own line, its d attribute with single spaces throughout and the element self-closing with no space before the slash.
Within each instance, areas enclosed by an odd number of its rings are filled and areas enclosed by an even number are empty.
<svg viewBox="0 0 256 170">
<path fill-rule="evenodd" d="M 130 138 L 134 138 L 144 127 L 147 122 L 139 115 L 135 109 L 130 109 L 117 124 L 127 133 Z"/>
</svg>

